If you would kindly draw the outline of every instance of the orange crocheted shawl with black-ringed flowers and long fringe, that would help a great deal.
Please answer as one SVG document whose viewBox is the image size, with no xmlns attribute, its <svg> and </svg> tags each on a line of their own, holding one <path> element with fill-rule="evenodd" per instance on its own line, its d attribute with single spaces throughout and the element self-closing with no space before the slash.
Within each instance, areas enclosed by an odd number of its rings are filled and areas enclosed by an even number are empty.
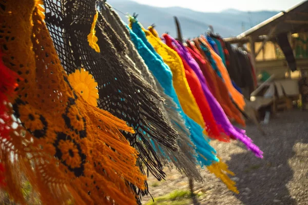
<svg viewBox="0 0 308 205">
<path fill-rule="evenodd" d="M 35 2 L 0 7 L 2 58 L 22 78 L 17 95 L 9 96 L 18 127 L 2 144 L 5 191 L 26 204 L 26 176 L 42 204 L 136 204 L 126 181 L 144 189 L 145 177 L 136 166 L 138 153 L 119 129 L 134 131 L 72 88 Z"/>
</svg>

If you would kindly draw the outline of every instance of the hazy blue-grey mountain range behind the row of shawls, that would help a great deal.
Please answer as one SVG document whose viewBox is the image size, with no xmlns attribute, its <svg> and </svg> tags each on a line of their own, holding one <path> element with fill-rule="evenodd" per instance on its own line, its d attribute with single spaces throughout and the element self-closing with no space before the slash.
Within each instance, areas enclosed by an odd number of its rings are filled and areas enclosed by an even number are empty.
<svg viewBox="0 0 308 205">
<path fill-rule="evenodd" d="M 227 9 L 221 12 L 199 12 L 181 7 L 153 7 L 130 0 L 108 0 L 108 3 L 119 13 L 124 22 L 127 22 L 126 13 L 131 15 L 134 12 L 138 13 L 139 22 L 145 28 L 155 24 L 159 34 L 169 32 L 170 35 L 176 36 L 174 16 L 177 16 L 183 37 L 186 38 L 204 34 L 209 25 L 214 27 L 215 33 L 219 33 L 223 37 L 237 36 L 279 13 L 278 11 L 244 12 L 236 9 Z"/>
</svg>

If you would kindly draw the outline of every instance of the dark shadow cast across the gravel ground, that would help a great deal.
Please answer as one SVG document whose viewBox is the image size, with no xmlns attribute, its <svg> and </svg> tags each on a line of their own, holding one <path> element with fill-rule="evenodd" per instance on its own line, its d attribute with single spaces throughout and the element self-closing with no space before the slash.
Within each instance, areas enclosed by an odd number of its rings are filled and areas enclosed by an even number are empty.
<svg viewBox="0 0 308 205">
<path fill-rule="evenodd" d="M 231 159 L 227 161 L 229 169 L 237 176 L 235 179 L 240 194 L 236 197 L 247 205 L 298 204 L 287 185 L 294 177 L 294 168 L 290 163 L 299 166 L 296 172 L 303 170 L 301 163 L 307 165 L 308 156 L 302 156 L 302 159 L 295 157 L 298 152 L 295 145 L 308 143 L 308 113 L 282 113 L 262 128 L 266 136 L 260 135 L 254 126 L 248 127 L 247 135 L 264 152 L 263 159 L 253 154 L 239 153 L 230 155 Z M 305 186 L 297 189 L 305 190 Z"/>
</svg>

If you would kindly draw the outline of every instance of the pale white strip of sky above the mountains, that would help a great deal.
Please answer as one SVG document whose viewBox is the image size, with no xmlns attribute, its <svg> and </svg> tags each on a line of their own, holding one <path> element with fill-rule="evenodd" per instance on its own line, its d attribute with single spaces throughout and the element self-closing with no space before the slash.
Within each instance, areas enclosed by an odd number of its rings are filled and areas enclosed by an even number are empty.
<svg viewBox="0 0 308 205">
<path fill-rule="evenodd" d="M 133 0 L 140 4 L 156 7 L 183 7 L 195 11 L 220 12 L 225 9 L 241 11 L 285 11 L 301 2 L 301 0 Z"/>
</svg>

